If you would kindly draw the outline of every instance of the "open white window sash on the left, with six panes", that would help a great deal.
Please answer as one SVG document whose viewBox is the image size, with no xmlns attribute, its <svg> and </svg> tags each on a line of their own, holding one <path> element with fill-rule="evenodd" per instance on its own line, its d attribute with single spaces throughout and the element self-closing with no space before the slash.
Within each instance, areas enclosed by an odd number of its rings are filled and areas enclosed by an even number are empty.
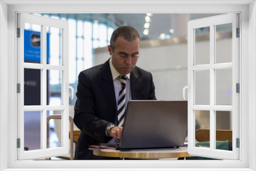
<svg viewBox="0 0 256 171">
<path fill-rule="evenodd" d="M 40 63 L 24 62 L 24 24 L 41 26 L 41 59 Z M 53 156 L 66 156 L 69 153 L 69 24 L 65 20 L 38 16 L 27 13 L 17 14 L 17 27 L 20 28 L 20 37 L 17 38 L 17 83 L 20 83 L 20 93 L 17 94 L 17 138 L 20 139 L 20 148 L 17 148 L 17 159 L 43 159 Z M 47 64 L 47 27 L 61 30 L 61 65 Z M 24 69 L 39 69 L 40 72 L 40 105 L 24 105 Z M 47 70 L 61 72 L 61 104 L 47 105 Z M 40 149 L 24 151 L 24 112 L 40 111 Z M 61 146 L 47 148 L 47 111 L 61 111 Z"/>
</svg>

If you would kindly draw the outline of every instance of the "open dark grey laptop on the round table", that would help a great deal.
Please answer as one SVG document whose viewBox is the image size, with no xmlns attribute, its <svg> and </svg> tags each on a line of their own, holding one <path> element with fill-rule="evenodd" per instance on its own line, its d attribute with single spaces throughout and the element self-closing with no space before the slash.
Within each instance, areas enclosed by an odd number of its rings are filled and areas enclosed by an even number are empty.
<svg viewBox="0 0 256 171">
<path fill-rule="evenodd" d="M 117 149 L 180 147 L 186 135 L 187 101 L 130 100 Z"/>
</svg>

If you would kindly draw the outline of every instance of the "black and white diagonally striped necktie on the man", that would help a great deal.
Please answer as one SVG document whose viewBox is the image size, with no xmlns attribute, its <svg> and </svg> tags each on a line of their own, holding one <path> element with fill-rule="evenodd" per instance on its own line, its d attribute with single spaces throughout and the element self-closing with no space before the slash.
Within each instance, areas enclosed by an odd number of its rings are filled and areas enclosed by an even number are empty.
<svg viewBox="0 0 256 171">
<path fill-rule="evenodd" d="M 120 75 L 119 80 L 121 82 L 122 88 L 119 92 L 118 96 L 118 105 L 117 105 L 117 125 L 122 126 L 124 122 L 125 115 L 125 84 L 126 84 L 126 76 Z"/>
</svg>

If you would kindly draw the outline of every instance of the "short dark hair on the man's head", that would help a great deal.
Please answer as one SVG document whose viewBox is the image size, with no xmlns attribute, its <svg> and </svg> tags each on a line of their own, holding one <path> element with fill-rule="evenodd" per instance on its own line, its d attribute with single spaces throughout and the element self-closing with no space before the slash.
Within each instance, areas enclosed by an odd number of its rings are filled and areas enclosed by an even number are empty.
<svg viewBox="0 0 256 171">
<path fill-rule="evenodd" d="M 114 51 L 114 48 L 116 46 L 116 39 L 120 36 L 122 36 L 127 41 L 134 41 L 137 38 L 140 39 L 140 35 L 135 28 L 131 26 L 118 27 L 116 30 L 114 30 L 110 39 L 110 46 L 112 48 L 112 51 Z"/>
</svg>

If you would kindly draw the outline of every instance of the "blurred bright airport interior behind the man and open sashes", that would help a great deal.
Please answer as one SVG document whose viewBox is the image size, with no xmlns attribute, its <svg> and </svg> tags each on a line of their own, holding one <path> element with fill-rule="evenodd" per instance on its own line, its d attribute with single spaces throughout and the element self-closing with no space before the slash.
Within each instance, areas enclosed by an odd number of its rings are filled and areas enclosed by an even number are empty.
<svg viewBox="0 0 256 171">
<path fill-rule="evenodd" d="M 34 14 L 67 20 L 69 23 L 69 83 L 77 87 L 78 74 L 110 58 L 107 46 L 112 32 L 119 26 L 132 26 L 141 38 L 137 66 L 153 74 L 156 97 L 159 100 L 184 100 L 182 89 L 187 86 L 187 23 L 189 20 L 219 14 Z M 40 26 L 25 24 L 24 61 L 40 62 Z M 209 27 L 196 32 L 196 64 L 209 64 Z M 216 27 L 216 62 L 232 62 L 232 24 Z M 61 30 L 47 27 L 47 63 L 61 62 Z M 209 104 L 209 70 L 196 73 L 196 104 Z M 25 105 L 40 103 L 40 71 L 24 70 Z M 61 72 L 47 72 L 47 104 L 61 104 Z M 216 103 L 232 105 L 232 69 L 216 73 Z M 39 91 L 38 91 L 39 90 Z M 187 98 L 187 93 L 186 93 Z M 74 116 L 76 96 L 71 99 L 70 116 Z M 47 115 L 61 114 L 48 111 Z M 231 112 L 216 114 L 216 129 L 232 130 Z M 28 151 L 40 149 L 40 112 L 25 112 L 25 146 Z M 196 129 L 209 129 L 209 111 L 196 111 Z M 74 125 L 74 130 L 77 127 Z M 61 121 L 49 120 L 49 148 L 61 146 Z M 60 159 L 60 158 L 54 158 Z"/>
</svg>

